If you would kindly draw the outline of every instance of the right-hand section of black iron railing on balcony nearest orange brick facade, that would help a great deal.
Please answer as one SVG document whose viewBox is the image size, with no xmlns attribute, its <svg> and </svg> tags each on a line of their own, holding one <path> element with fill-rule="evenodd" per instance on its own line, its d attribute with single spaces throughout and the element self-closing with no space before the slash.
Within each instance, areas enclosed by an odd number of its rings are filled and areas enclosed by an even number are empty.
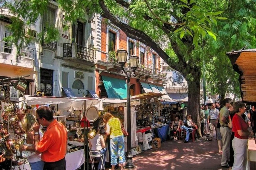
<svg viewBox="0 0 256 170">
<path fill-rule="evenodd" d="M 77 44 L 76 57 L 94 62 L 94 50 Z"/>
</svg>

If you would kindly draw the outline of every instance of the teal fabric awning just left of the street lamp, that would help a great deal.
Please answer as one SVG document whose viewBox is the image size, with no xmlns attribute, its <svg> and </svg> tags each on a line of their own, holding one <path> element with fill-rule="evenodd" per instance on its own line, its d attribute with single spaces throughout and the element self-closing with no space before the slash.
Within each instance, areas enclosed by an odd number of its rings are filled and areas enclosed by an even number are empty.
<svg viewBox="0 0 256 170">
<path fill-rule="evenodd" d="M 125 80 L 101 76 L 103 79 L 104 87 L 106 89 L 108 98 L 112 99 L 126 99 L 127 98 L 127 85 Z"/>
</svg>

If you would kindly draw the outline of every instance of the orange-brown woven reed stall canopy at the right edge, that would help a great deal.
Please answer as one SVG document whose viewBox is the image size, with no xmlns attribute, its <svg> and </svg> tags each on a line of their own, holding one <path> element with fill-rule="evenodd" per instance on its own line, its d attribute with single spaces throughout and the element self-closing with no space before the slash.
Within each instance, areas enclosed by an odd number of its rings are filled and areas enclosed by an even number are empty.
<svg viewBox="0 0 256 170">
<path fill-rule="evenodd" d="M 226 53 L 239 73 L 239 83 L 242 101 L 247 104 L 256 103 L 256 69 L 250 63 L 256 62 L 256 49 L 231 51 Z"/>
</svg>

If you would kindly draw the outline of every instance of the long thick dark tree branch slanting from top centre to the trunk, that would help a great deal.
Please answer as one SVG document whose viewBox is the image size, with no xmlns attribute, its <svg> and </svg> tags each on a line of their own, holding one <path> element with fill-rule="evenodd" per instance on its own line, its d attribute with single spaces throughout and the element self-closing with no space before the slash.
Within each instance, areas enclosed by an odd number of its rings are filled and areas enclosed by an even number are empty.
<svg viewBox="0 0 256 170">
<path fill-rule="evenodd" d="M 104 3 L 104 0 L 99 0 L 99 4 L 103 11 L 103 13 L 101 14 L 103 18 L 109 19 L 114 25 L 119 27 L 128 37 L 138 40 L 138 41 L 144 43 L 145 45 L 151 47 L 152 49 L 154 49 L 158 53 L 158 55 L 164 60 L 164 62 L 166 62 L 170 67 L 172 67 L 175 70 L 178 69 L 179 63 L 177 63 L 173 59 L 171 59 L 166 54 L 166 52 L 164 52 L 164 50 L 156 42 L 154 42 L 147 34 L 145 34 L 144 32 L 142 32 L 140 30 L 134 29 L 131 26 L 119 21 L 108 10 L 108 8 L 106 7 L 106 5 Z"/>
</svg>

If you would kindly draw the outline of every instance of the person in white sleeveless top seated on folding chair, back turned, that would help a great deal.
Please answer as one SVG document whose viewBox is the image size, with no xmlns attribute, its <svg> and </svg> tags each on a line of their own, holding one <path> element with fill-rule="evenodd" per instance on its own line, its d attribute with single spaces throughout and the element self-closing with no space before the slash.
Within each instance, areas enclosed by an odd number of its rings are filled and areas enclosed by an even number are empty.
<svg viewBox="0 0 256 170">
<path fill-rule="evenodd" d="M 106 148 L 103 136 L 99 134 L 100 128 L 97 126 L 95 127 L 95 130 L 96 130 L 96 135 L 94 136 L 94 138 L 89 139 L 89 147 L 91 151 L 99 151 L 101 155 L 104 155 L 103 166 L 105 166 L 107 148 Z M 99 153 L 95 152 L 93 154 L 98 155 Z M 101 159 L 99 157 L 97 157 L 97 159 L 99 160 L 98 170 L 104 169 L 103 167 L 101 167 L 101 163 L 102 163 Z"/>
</svg>

